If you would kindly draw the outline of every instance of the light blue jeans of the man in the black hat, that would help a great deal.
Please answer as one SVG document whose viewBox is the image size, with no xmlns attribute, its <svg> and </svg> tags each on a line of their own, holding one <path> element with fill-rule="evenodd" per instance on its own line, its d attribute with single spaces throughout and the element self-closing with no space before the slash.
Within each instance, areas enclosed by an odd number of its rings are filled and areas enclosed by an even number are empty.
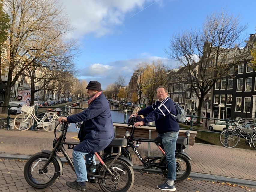
<svg viewBox="0 0 256 192">
<path fill-rule="evenodd" d="M 74 167 L 77 175 L 77 182 L 88 181 L 86 165 L 85 165 L 83 156 L 85 156 L 86 164 L 90 164 L 93 162 L 94 165 L 96 165 L 94 153 L 87 153 L 87 152 L 80 152 L 80 151 L 73 150 L 73 161 L 74 161 Z M 95 169 L 92 172 L 95 172 Z M 94 179 L 94 178 L 91 178 L 91 179 Z"/>
</svg>

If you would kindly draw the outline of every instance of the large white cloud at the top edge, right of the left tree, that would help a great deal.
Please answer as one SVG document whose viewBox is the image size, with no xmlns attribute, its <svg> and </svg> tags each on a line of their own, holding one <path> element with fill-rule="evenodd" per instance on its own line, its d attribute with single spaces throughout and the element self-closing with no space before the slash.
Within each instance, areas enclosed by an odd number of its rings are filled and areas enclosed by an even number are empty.
<svg viewBox="0 0 256 192">
<path fill-rule="evenodd" d="M 153 0 L 62 0 L 65 12 L 71 19 L 75 38 L 82 38 L 85 34 L 95 34 L 101 37 L 115 30 L 115 26 L 122 25 L 125 14 L 134 14 L 148 6 Z M 161 5 L 161 1 L 157 1 Z"/>
</svg>

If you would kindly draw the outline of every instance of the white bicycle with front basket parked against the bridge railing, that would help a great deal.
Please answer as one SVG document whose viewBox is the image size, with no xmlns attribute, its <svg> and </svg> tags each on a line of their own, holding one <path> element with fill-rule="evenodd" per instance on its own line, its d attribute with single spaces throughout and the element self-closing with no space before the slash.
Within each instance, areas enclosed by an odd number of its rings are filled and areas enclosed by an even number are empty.
<svg viewBox="0 0 256 192">
<path fill-rule="evenodd" d="M 37 104 L 29 107 L 27 105 L 23 105 L 21 110 L 23 111 L 21 114 L 17 115 L 14 118 L 14 127 L 20 131 L 26 131 L 34 125 L 34 119 L 37 122 L 37 127 L 43 127 L 43 129 L 47 132 L 53 132 L 54 128 L 58 125 L 58 115 L 57 112 L 51 112 L 47 110 L 42 119 L 38 119 L 35 116 L 35 106 Z M 41 106 L 41 105 L 39 105 Z M 57 129 L 59 126 L 57 127 Z M 60 131 L 60 130 L 58 130 Z"/>
</svg>

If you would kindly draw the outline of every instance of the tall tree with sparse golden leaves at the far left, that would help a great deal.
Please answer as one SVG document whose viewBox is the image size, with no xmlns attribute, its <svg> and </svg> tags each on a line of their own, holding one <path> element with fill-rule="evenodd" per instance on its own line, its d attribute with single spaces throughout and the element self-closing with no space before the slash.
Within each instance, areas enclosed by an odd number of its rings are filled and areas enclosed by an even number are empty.
<svg viewBox="0 0 256 192">
<path fill-rule="evenodd" d="M 69 20 L 56 0 L 5 0 L 3 3 L 11 19 L 8 81 L 4 85 L 4 105 L 7 105 L 11 87 L 24 70 L 35 65 L 56 69 L 76 54 L 77 45 L 75 40 L 66 39 L 71 30 Z M 1 83 L 4 84 L 2 79 Z"/>
</svg>

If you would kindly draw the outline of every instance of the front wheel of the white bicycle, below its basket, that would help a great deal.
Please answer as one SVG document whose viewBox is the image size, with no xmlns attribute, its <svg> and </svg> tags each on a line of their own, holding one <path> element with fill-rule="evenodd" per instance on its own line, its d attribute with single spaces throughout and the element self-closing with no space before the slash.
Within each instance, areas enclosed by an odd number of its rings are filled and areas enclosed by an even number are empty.
<svg viewBox="0 0 256 192">
<path fill-rule="evenodd" d="M 27 113 L 21 113 L 14 118 L 14 127 L 20 131 L 26 131 L 31 128 L 34 121 Z"/>
</svg>

